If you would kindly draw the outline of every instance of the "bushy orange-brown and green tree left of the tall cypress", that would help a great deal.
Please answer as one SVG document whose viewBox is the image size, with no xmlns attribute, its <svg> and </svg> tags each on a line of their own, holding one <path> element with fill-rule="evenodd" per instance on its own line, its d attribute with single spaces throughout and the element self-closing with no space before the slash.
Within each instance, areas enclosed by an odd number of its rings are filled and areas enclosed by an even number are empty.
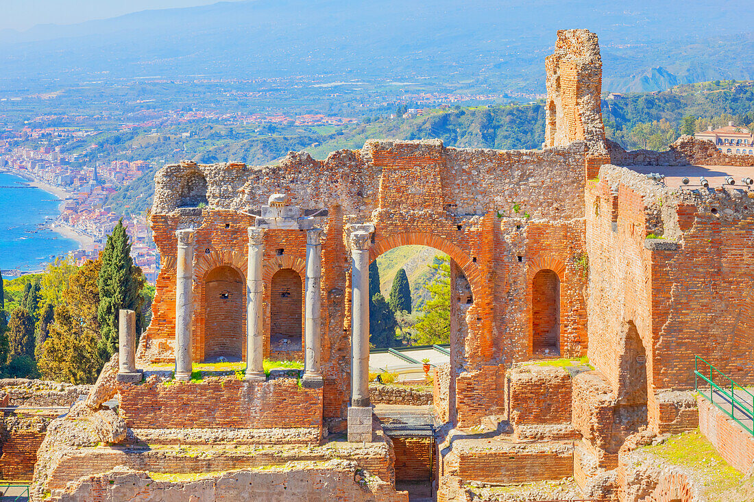
<svg viewBox="0 0 754 502">
<path fill-rule="evenodd" d="M 63 301 L 54 309 L 54 323 L 37 352 L 44 378 L 88 384 L 97 379 L 104 360 L 100 357 L 100 304 L 98 282 L 101 262 L 87 262 L 69 278 Z"/>
</svg>

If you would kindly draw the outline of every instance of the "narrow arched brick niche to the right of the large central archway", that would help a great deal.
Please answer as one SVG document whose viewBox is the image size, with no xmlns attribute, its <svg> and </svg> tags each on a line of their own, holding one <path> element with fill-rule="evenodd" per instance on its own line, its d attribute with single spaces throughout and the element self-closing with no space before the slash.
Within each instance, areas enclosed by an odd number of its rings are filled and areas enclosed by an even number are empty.
<svg viewBox="0 0 754 502">
<path fill-rule="evenodd" d="M 549 269 L 532 280 L 532 353 L 560 355 L 560 278 Z"/>
</svg>

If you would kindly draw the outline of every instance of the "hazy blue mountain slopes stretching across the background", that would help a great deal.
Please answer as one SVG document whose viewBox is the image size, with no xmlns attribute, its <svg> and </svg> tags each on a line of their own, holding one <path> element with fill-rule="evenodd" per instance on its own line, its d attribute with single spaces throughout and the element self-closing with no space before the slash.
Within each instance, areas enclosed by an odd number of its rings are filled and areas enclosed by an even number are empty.
<svg viewBox="0 0 754 502">
<path fill-rule="evenodd" d="M 754 78 L 754 2 L 249 0 L 0 32 L 0 90 L 118 78 L 437 82 L 544 92 L 556 29 L 600 38 L 606 90 Z"/>
</svg>

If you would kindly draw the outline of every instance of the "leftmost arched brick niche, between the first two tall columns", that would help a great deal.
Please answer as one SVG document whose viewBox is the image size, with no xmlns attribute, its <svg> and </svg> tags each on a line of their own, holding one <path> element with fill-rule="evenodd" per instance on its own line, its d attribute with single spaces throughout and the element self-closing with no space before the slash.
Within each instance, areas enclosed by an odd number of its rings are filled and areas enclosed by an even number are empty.
<svg viewBox="0 0 754 502">
<path fill-rule="evenodd" d="M 240 361 L 246 341 L 246 289 L 234 268 L 213 268 L 204 280 L 204 360 Z"/>
</svg>

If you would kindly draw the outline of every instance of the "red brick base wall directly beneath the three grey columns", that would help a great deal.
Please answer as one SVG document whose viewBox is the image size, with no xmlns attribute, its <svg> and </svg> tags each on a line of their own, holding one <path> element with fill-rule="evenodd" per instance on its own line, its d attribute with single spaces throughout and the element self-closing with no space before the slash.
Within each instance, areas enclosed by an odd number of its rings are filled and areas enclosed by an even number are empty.
<svg viewBox="0 0 754 502">
<path fill-rule="evenodd" d="M 198 383 L 119 384 L 120 413 L 128 427 L 250 429 L 322 424 L 322 390 L 299 387 L 293 378 L 250 383 L 235 377 Z"/>
</svg>

